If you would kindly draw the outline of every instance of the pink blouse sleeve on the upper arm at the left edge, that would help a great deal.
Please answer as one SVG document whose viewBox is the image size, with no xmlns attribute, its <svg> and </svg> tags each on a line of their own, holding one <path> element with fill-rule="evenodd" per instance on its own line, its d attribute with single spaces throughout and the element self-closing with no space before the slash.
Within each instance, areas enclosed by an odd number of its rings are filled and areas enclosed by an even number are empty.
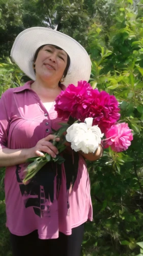
<svg viewBox="0 0 143 256">
<path fill-rule="evenodd" d="M 4 93 L 0 99 L 0 149 L 7 147 L 9 123 L 7 100 Z"/>
</svg>

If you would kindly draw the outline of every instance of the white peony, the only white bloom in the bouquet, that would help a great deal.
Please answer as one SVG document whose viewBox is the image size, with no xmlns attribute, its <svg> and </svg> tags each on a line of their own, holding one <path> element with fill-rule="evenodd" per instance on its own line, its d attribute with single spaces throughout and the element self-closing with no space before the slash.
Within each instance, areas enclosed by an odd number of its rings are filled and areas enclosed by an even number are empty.
<svg viewBox="0 0 143 256">
<path fill-rule="evenodd" d="M 74 123 L 68 130 L 66 140 L 71 142 L 74 151 L 82 151 L 85 154 L 94 153 L 104 134 L 101 133 L 98 125 L 92 126 L 93 118 L 85 118 L 84 123 Z"/>
</svg>

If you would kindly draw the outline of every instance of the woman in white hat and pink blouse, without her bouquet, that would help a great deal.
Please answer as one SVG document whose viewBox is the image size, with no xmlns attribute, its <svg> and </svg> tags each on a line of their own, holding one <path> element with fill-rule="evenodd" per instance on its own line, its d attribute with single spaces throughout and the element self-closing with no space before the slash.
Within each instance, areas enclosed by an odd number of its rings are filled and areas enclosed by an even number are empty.
<svg viewBox="0 0 143 256">
<path fill-rule="evenodd" d="M 70 148 L 64 164 L 48 163 L 27 185 L 22 179 L 28 158 L 43 156 L 42 152 L 58 154 L 51 143 L 52 129 L 57 130 L 61 121 L 54 101 L 68 84 L 89 80 L 90 58 L 71 37 L 41 27 L 21 32 L 11 56 L 32 78 L 23 87 L 8 89 L 0 100 L 0 165 L 6 166 L 13 255 L 79 256 L 84 223 L 92 221 L 84 158 L 99 159 L 102 147 L 95 154 L 70 154 Z"/>
</svg>

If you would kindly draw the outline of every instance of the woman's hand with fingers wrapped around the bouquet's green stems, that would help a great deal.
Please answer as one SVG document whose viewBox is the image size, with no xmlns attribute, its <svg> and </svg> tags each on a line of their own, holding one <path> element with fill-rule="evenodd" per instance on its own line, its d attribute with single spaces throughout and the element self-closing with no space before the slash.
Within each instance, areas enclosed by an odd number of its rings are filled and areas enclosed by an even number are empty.
<svg viewBox="0 0 143 256">
<path fill-rule="evenodd" d="M 51 157 L 55 158 L 59 154 L 58 149 L 52 145 L 50 140 L 60 141 L 60 138 L 55 138 L 55 135 L 48 135 L 47 137 L 39 140 L 35 147 L 31 148 L 31 157 L 44 157 L 42 152 L 48 153 Z"/>
</svg>

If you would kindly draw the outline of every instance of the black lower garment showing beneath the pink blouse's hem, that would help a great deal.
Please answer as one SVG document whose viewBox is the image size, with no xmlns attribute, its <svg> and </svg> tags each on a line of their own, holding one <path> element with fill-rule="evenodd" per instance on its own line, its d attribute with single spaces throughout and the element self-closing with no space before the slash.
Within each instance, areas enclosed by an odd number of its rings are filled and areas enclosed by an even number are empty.
<svg viewBox="0 0 143 256">
<path fill-rule="evenodd" d="M 22 237 L 11 234 L 13 256 L 80 256 L 83 233 L 84 223 L 70 236 L 60 232 L 58 239 L 39 239 L 37 230 Z"/>
</svg>

